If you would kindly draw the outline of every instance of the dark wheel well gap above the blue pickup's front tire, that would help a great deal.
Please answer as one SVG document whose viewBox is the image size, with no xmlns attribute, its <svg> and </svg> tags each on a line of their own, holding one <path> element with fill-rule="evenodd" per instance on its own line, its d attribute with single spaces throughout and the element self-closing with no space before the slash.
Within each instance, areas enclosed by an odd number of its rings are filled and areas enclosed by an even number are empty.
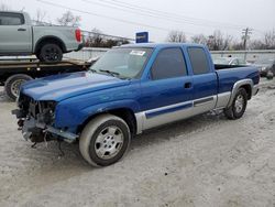
<svg viewBox="0 0 275 207">
<path fill-rule="evenodd" d="M 81 132 L 82 129 L 85 128 L 85 126 L 90 120 L 95 119 L 96 117 L 98 117 L 100 115 L 105 115 L 105 113 L 110 113 L 110 115 L 113 115 L 113 116 L 117 116 L 117 117 L 123 119 L 127 122 L 127 124 L 129 126 L 131 133 L 132 134 L 136 133 L 136 119 L 135 119 L 134 112 L 128 108 L 113 109 L 113 110 L 108 110 L 108 111 L 92 115 L 81 126 L 78 127 L 77 132 Z"/>
</svg>

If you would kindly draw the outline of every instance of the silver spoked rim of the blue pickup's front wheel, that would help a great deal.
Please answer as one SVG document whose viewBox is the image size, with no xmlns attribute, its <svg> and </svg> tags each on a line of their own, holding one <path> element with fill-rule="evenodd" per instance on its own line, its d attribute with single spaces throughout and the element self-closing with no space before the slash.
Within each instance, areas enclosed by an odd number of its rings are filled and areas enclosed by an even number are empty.
<svg viewBox="0 0 275 207">
<path fill-rule="evenodd" d="M 95 151 L 99 159 L 109 160 L 114 157 L 121 150 L 124 137 L 120 128 L 107 127 L 100 131 L 95 142 Z"/>
</svg>

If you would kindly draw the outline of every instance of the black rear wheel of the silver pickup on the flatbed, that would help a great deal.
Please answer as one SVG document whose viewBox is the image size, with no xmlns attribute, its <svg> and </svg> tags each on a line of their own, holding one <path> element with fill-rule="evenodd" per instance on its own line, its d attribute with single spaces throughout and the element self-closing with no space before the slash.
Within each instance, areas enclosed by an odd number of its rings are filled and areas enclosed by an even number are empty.
<svg viewBox="0 0 275 207">
<path fill-rule="evenodd" d="M 41 47 L 36 56 L 41 62 L 58 63 L 63 58 L 63 51 L 57 44 L 47 43 Z"/>
</svg>

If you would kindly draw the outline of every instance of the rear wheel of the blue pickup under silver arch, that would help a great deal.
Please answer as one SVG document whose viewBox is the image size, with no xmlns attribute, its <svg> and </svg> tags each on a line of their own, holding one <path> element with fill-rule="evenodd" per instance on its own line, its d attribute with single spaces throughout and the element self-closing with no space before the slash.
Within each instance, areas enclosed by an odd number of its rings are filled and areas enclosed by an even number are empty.
<svg viewBox="0 0 275 207">
<path fill-rule="evenodd" d="M 229 108 L 224 109 L 223 112 L 228 119 L 231 120 L 240 119 L 246 109 L 246 105 L 248 105 L 248 92 L 244 88 L 239 88 L 232 105 Z"/>
</svg>

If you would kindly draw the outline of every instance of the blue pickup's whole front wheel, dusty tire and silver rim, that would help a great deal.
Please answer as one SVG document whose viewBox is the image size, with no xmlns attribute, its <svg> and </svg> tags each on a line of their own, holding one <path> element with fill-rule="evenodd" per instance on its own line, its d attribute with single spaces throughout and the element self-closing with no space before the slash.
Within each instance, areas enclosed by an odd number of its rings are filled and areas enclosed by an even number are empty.
<svg viewBox="0 0 275 207">
<path fill-rule="evenodd" d="M 111 128 L 117 129 L 119 132 L 118 137 L 119 134 L 122 135 L 122 143 L 112 143 L 111 139 L 116 140 L 117 131 L 114 131 L 114 135 L 111 137 L 111 132 L 109 132 L 109 129 Z M 106 130 L 108 131 L 103 134 Z M 124 120 L 112 115 L 101 115 L 92 119 L 84 128 L 79 140 L 79 150 L 84 159 L 92 166 L 108 166 L 123 157 L 129 149 L 130 142 L 131 132 Z M 109 144 L 113 145 L 110 146 Z M 100 151 L 100 149 L 105 151 L 103 154 L 99 155 L 99 152 L 97 152 L 96 149 L 98 151 Z M 116 153 L 111 154 L 108 150 L 114 150 Z M 108 157 L 108 155 L 110 157 Z"/>
</svg>

